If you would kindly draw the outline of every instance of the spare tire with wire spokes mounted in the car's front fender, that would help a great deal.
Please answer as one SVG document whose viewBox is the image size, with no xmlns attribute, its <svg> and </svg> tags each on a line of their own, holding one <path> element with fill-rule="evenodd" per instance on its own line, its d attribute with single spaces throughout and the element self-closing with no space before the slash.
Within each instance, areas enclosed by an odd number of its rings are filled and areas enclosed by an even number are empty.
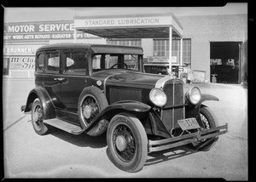
<svg viewBox="0 0 256 182">
<path fill-rule="evenodd" d="M 102 90 L 97 87 L 84 88 L 79 96 L 79 122 L 82 128 L 87 128 L 90 122 L 108 106 L 108 100 Z M 108 121 L 98 122 L 86 134 L 98 136 L 103 134 L 108 128 Z"/>
</svg>

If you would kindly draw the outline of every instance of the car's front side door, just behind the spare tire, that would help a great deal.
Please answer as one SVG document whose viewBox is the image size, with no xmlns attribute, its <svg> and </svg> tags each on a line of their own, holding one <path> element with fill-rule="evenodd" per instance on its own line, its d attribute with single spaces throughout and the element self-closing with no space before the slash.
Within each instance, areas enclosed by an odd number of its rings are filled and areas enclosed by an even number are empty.
<svg viewBox="0 0 256 182">
<path fill-rule="evenodd" d="M 79 96 L 88 86 L 87 49 L 67 49 L 62 51 L 63 71 L 61 92 L 63 104 L 68 111 L 77 113 Z"/>
</svg>

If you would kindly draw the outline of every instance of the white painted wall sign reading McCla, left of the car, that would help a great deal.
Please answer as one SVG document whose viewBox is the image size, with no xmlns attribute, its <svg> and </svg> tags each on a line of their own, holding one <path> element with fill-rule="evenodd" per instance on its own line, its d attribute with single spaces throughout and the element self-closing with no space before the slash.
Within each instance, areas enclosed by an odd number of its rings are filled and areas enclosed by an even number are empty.
<svg viewBox="0 0 256 182">
<path fill-rule="evenodd" d="M 9 69 L 11 70 L 33 70 L 35 69 L 35 57 L 17 56 L 9 58 Z"/>
</svg>

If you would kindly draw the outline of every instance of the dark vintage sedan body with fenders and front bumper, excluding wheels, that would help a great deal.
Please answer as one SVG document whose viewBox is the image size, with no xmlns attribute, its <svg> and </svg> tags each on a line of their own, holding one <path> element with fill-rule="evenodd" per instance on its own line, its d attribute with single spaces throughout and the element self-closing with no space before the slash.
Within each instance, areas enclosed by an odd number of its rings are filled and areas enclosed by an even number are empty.
<svg viewBox="0 0 256 182">
<path fill-rule="evenodd" d="M 131 61 L 126 61 L 125 57 Z M 115 58 L 121 63 L 113 64 Z M 51 61 L 53 63 L 49 63 Z M 115 65 L 116 69 L 113 67 Z M 35 67 L 36 88 L 32 89 L 21 110 L 31 111 L 33 100 L 38 98 L 43 107 L 44 123 L 69 133 L 89 134 L 101 121 L 106 121 L 102 124 L 108 127 L 112 118 L 120 113 L 128 113 L 142 123 L 148 135 L 147 152 L 214 139 L 227 132 L 227 124 L 184 132 L 178 121 L 193 117 L 202 128 L 201 103 L 218 98 L 201 94 L 201 100 L 194 105 L 186 97 L 189 91 L 184 90 L 182 80 L 144 73 L 143 48 L 84 43 L 53 44 L 38 48 Z M 156 106 L 150 100 L 148 95 L 154 88 L 166 94 L 165 105 Z M 84 122 L 81 117 L 89 113 L 89 116 L 85 116 L 88 121 L 94 109 L 83 106 L 83 93 L 90 89 L 98 90 L 107 102 L 90 122 Z"/>
</svg>

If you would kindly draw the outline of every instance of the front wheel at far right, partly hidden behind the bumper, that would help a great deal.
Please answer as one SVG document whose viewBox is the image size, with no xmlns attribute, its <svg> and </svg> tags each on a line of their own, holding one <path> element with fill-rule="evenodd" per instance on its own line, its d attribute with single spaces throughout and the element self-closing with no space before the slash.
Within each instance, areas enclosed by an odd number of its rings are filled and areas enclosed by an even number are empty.
<svg viewBox="0 0 256 182">
<path fill-rule="evenodd" d="M 201 122 L 204 126 L 204 129 L 218 127 L 217 118 L 213 115 L 212 111 L 206 105 L 201 105 L 200 117 L 201 117 Z M 218 140 L 218 137 L 204 139 L 201 142 L 192 143 L 190 147 L 197 151 L 209 151 L 212 148 L 212 146 L 216 144 L 217 140 Z"/>
</svg>

